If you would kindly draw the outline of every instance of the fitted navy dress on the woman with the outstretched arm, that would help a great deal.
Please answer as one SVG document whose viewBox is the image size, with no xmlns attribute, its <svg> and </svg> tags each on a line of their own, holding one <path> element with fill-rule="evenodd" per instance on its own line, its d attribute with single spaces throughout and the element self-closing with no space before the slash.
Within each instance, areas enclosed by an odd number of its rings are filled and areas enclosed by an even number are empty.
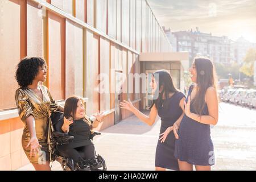
<svg viewBox="0 0 256 182">
<path fill-rule="evenodd" d="M 183 110 L 180 108 L 179 104 L 180 100 L 184 97 L 183 93 L 176 92 L 172 97 L 164 100 L 163 107 L 162 104 L 158 105 L 158 115 L 161 118 L 160 134 L 164 133 L 168 127 L 173 126 L 180 115 L 183 114 Z M 174 131 L 170 132 L 164 143 L 160 143 L 160 140 L 158 140 L 155 153 L 156 167 L 179 170 L 179 164 L 174 157 L 174 147 Z"/>
</svg>

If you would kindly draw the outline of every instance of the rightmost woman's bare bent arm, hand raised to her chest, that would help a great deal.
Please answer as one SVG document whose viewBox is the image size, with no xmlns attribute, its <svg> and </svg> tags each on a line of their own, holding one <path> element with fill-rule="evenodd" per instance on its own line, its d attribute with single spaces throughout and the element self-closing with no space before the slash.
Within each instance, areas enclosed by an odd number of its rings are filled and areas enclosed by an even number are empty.
<svg viewBox="0 0 256 182">
<path fill-rule="evenodd" d="M 200 116 L 198 114 L 191 113 L 190 106 L 189 106 L 189 111 L 186 109 L 186 114 L 189 118 L 197 122 L 200 122 L 206 125 L 216 125 L 218 122 L 218 99 L 217 99 L 216 89 L 214 89 L 213 87 L 208 88 L 205 96 L 207 100 L 209 115 Z M 190 99 L 189 99 L 189 102 L 190 102 Z"/>
</svg>

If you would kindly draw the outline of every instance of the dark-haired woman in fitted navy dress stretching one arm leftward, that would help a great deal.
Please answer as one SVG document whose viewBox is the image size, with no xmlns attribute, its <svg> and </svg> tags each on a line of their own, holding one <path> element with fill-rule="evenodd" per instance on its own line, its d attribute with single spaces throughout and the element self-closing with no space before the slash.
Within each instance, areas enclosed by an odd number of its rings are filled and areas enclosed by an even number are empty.
<svg viewBox="0 0 256 182">
<path fill-rule="evenodd" d="M 174 157 L 174 147 L 177 129 L 184 115 L 185 96 L 175 88 L 170 73 L 165 70 L 154 73 L 151 87 L 154 90 L 155 100 L 150 107 L 149 116 L 141 113 L 131 102 L 121 102 L 121 108 L 130 110 L 150 126 L 154 124 L 156 115 L 160 116 L 161 128 L 156 147 L 155 169 L 156 171 L 179 170 L 179 164 Z"/>
</svg>

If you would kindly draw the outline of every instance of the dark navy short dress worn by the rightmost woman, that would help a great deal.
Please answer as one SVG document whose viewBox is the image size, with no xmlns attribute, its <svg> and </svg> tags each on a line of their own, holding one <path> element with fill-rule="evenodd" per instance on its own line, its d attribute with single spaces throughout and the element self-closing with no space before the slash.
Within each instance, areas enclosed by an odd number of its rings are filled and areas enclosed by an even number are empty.
<svg viewBox="0 0 256 182">
<path fill-rule="evenodd" d="M 190 96 L 193 85 L 190 86 Z M 186 102 L 188 97 L 186 98 Z M 191 112 L 196 113 L 191 105 Z M 203 114 L 209 115 L 207 104 Z M 212 166 L 214 164 L 213 143 L 210 138 L 210 125 L 199 123 L 184 115 L 178 131 L 179 139 L 175 142 L 175 158 L 198 166 Z"/>
</svg>

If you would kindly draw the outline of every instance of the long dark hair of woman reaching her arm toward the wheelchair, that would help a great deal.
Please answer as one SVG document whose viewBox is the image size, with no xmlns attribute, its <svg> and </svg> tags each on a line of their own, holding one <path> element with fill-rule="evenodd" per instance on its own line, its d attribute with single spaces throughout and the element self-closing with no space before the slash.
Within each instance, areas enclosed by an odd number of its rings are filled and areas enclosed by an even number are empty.
<svg viewBox="0 0 256 182">
<path fill-rule="evenodd" d="M 167 99 L 169 98 L 169 93 L 176 93 L 178 90 L 175 88 L 174 82 L 172 81 L 172 77 L 167 70 L 161 69 L 159 71 L 156 71 L 152 76 L 154 78 L 158 78 L 158 79 L 155 79 L 157 88 L 156 88 L 156 92 L 154 93 L 154 96 L 155 96 L 154 98 L 156 97 L 157 98 L 153 100 L 153 103 L 150 106 L 150 109 L 153 107 L 154 104 L 156 106 L 156 109 L 158 109 L 160 102 L 163 102 L 163 99 L 162 99 L 163 94 Z M 163 86 L 163 90 L 162 92 L 158 93 L 161 86 Z"/>
</svg>

